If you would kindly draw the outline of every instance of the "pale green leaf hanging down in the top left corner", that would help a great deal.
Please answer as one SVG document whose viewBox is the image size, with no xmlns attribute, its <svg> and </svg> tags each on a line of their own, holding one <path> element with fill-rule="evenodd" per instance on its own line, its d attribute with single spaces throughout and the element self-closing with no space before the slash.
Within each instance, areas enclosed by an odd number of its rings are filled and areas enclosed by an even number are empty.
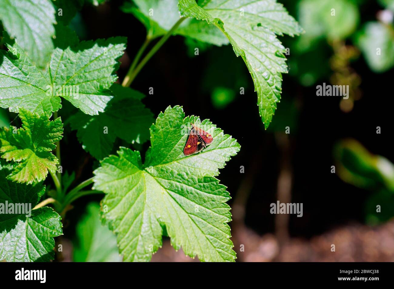
<svg viewBox="0 0 394 289">
<path fill-rule="evenodd" d="M 33 63 L 45 66 L 54 49 L 55 9 L 49 0 L 0 0 L 0 20 Z M 1 62 L 1 61 L 0 61 Z"/>
</svg>

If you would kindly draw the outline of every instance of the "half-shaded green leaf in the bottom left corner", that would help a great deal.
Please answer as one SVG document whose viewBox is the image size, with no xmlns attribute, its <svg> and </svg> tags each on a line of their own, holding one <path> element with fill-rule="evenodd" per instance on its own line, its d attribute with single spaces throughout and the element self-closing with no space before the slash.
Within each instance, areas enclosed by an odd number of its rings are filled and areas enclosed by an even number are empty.
<svg viewBox="0 0 394 289">
<path fill-rule="evenodd" d="M 54 258 L 53 237 L 62 234 L 61 218 L 49 207 L 32 210 L 45 186 L 12 182 L 7 179 L 11 171 L 12 166 L 0 160 L 0 260 L 50 261 Z M 23 211 L 10 214 L 11 207 Z"/>
</svg>

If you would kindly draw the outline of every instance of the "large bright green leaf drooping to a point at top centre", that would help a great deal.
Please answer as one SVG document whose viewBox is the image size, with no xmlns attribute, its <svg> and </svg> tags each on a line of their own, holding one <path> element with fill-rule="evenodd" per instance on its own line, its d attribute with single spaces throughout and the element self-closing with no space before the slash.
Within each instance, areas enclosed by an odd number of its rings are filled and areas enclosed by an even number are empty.
<svg viewBox="0 0 394 289">
<path fill-rule="evenodd" d="M 257 91 L 259 113 L 267 128 L 281 97 L 282 76 L 287 72 L 284 46 L 276 34 L 298 35 L 303 29 L 275 0 L 180 0 L 184 17 L 206 20 L 228 37 L 242 56 Z"/>
</svg>

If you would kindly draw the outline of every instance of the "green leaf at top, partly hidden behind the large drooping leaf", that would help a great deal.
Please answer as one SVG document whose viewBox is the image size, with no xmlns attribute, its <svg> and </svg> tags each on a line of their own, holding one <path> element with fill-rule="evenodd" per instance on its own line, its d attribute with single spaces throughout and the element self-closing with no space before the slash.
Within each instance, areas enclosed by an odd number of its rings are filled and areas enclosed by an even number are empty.
<svg viewBox="0 0 394 289">
<path fill-rule="evenodd" d="M 133 0 L 136 6 L 125 2 L 122 10 L 132 13 L 147 29 L 148 37 L 156 38 L 167 33 L 179 20 L 178 0 Z M 175 35 L 191 37 L 221 46 L 229 40 L 219 29 L 206 22 L 187 19 L 174 31 Z"/>
</svg>

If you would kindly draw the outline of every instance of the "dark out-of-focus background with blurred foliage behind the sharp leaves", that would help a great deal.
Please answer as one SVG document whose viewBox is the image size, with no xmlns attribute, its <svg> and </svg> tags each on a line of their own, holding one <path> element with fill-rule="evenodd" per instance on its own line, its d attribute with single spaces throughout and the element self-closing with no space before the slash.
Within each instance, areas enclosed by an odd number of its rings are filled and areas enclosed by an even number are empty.
<svg viewBox="0 0 394 289">
<path fill-rule="evenodd" d="M 72 20 L 81 39 L 128 37 L 120 80 L 146 35 L 143 24 L 121 11 L 123 2 L 85 5 Z M 394 261 L 394 2 L 279 2 L 306 33 L 279 37 L 290 48 L 290 72 L 283 75 L 281 102 L 268 130 L 258 115 L 252 78 L 230 45 L 171 37 L 132 88 L 147 95 L 143 102 L 155 116 L 169 105 L 182 105 L 186 115 L 209 118 L 241 144 L 219 175 L 232 196 L 230 226 L 238 261 Z M 333 2 L 346 11 L 335 20 L 322 16 Z M 379 45 L 382 55 L 375 57 Z M 316 96 L 316 85 L 323 83 L 349 85 L 349 99 Z M 75 131 L 68 131 L 63 166 L 78 164 L 77 179 L 87 179 L 97 161 L 83 151 Z M 147 147 L 136 148 L 144 155 Z M 88 200 L 78 200 L 68 213 L 65 236 L 74 236 Z M 277 200 L 303 203 L 303 217 L 270 214 Z M 341 253 L 333 254 L 331 244 Z M 153 260 L 191 260 L 169 246 L 166 240 Z"/>
</svg>

